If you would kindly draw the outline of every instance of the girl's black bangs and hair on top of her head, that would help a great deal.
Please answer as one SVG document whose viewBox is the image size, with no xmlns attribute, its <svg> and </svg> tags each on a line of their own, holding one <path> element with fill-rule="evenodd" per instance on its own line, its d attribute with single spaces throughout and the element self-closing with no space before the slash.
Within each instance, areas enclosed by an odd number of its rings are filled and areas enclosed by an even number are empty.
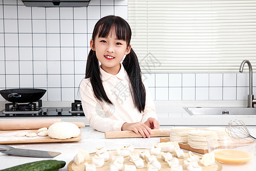
<svg viewBox="0 0 256 171">
<path fill-rule="evenodd" d="M 130 44 L 132 36 L 130 26 L 123 18 L 115 15 L 103 17 L 96 23 L 92 39 L 95 40 L 97 33 L 99 33 L 99 37 L 105 38 L 112 31 L 115 31 L 117 39 L 127 42 L 127 46 Z"/>
</svg>

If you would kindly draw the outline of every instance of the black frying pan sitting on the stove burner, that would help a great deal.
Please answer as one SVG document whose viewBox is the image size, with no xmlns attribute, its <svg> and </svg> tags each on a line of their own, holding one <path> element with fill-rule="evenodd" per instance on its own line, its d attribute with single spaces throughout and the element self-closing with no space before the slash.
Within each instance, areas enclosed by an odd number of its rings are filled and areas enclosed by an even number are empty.
<svg viewBox="0 0 256 171">
<path fill-rule="evenodd" d="M 38 101 L 43 97 L 46 89 L 19 88 L 3 89 L 0 91 L 5 100 L 13 103 L 30 103 Z"/>
</svg>

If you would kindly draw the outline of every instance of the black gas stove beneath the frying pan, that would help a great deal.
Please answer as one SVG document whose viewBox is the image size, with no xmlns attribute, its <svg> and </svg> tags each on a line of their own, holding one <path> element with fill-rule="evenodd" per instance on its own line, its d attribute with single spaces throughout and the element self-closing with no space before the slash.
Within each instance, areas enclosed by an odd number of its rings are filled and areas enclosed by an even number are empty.
<svg viewBox="0 0 256 171">
<path fill-rule="evenodd" d="M 75 100 L 70 107 L 42 107 L 42 100 L 32 103 L 6 103 L 0 117 L 65 117 L 84 116 L 82 103 Z"/>
</svg>

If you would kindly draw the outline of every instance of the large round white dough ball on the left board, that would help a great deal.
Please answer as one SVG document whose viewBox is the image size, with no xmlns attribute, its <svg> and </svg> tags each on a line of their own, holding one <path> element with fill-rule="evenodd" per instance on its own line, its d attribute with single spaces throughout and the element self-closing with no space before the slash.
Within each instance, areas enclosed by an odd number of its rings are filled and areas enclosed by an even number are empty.
<svg viewBox="0 0 256 171">
<path fill-rule="evenodd" d="M 72 123 L 54 123 L 48 128 L 48 136 L 52 139 L 70 139 L 79 135 L 80 129 Z"/>
</svg>

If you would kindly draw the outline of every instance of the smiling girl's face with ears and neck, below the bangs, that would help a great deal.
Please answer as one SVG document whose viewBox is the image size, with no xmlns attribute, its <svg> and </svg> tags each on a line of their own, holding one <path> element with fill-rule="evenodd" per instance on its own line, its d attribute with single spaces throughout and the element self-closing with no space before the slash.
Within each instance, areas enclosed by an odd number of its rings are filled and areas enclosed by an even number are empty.
<svg viewBox="0 0 256 171">
<path fill-rule="evenodd" d="M 90 41 L 90 46 L 96 52 L 101 68 L 112 75 L 119 72 L 121 60 L 131 51 L 131 45 L 127 46 L 124 40 L 117 39 L 114 31 L 105 38 L 97 35 L 95 41 Z"/>
</svg>

